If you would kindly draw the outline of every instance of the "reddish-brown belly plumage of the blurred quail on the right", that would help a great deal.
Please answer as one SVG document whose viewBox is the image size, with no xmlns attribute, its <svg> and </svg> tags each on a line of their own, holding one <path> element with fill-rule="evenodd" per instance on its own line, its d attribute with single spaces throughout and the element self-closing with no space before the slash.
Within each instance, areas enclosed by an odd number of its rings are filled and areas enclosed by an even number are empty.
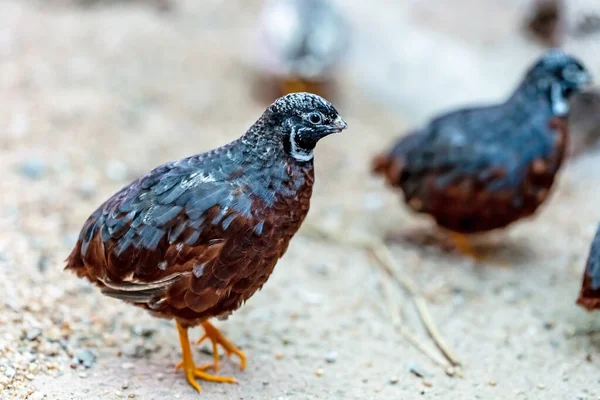
<svg viewBox="0 0 600 400">
<path fill-rule="evenodd" d="M 377 156 L 373 170 L 404 192 L 405 201 L 413 211 L 430 214 L 444 228 L 459 233 L 502 228 L 532 215 L 554 183 L 564 159 L 568 131 L 563 118 L 553 118 L 550 127 L 556 133 L 553 151 L 529 163 L 518 185 L 501 190 L 489 190 L 487 185 L 504 177 L 502 168 L 489 170 L 486 179 L 480 179 L 478 174 L 464 175 L 443 187 L 437 184 L 436 171 L 419 176 L 415 182 L 417 178 L 404 168 L 406 161 L 393 154 Z"/>
</svg>

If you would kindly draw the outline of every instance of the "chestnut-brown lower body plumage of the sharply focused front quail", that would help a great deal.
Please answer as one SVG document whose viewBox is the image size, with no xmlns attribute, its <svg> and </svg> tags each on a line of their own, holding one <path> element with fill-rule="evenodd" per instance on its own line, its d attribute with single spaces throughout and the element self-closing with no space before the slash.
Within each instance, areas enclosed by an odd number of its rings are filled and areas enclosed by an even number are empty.
<svg viewBox="0 0 600 400">
<path fill-rule="evenodd" d="M 132 302 L 160 317 L 177 318 L 184 326 L 226 316 L 267 281 L 308 212 L 314 180 L 312 162 L 302 167 L 290 164 L 286 174 L 290 184 L 295 174 L 303 178 L 303 185 L 289 188 L 295 189 L 293 195 L 278 194 L 270 207 L 253 199 L 252 209 L 258 211 L 251 217 L 238 215 L 226 229 L 222 224 L 206 224 L 193 245 L 184 241 L 169 243 L 167 234 L 155 249 L 131 248 L 117 255 L 118 241 L 103 241 L 98 229 L 85 255 L 82 238 L 79 239 L 66 268 L 88 278 L 109 296 Z M 124 200 L 120 192 L 100 210 L 117 208 Z M 203 219 L 213 220 L 222 211 L 213 206 Z M 233 216 L 233 212 L 226 212 L 222 220 Z M 94 215 L 82 232 L 97 222 Z M 181 212 L 169 224 L 170 229 L 187 222 L 182 221 L 185 219 L 189 217 Z M 192 228 L 188 230 L 181 233 L 182 238 L 194 233 Z"/>
</svg>

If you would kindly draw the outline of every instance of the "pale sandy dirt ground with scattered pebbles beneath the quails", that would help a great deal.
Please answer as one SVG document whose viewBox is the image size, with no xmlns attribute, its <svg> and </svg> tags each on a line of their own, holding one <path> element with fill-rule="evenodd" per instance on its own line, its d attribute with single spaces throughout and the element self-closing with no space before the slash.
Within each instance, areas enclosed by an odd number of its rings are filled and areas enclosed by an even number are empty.
<svg viewBox="0 0 600 400">
<path fill-rule="evenodd" d="M 101 296 L 63 260 L 114 191 L 260 115 L 260 2 L 87 3 L 0 1 L 0 398 L 197 398 L 174 371 L 173 323 Z M 308 221 L 388 238 L 464 376 L 447 376 L 393 329 L 362 249 L 301 232 L 264 289 L 218 323 L 249 356 L 244 372 L 223 363 L 239 384 L 204 383 L 201 396 L 600 399 L 600 315 L 574 304 L 600 220 L 600 153 L 569 162 L 538 215 L 487 238 L 479 264 L 403 239 L 431 223 L 368 173 L 376 151 L 433 113 L 512 90 L 543 51 L 520 29 L 528 1 L 338 3 L 354 47 L 333 100 L 350 128 L 317 149 Z M 571 22 L 593 6 L 569 3 Z M 600 77 L 599 43 L 568 37 L 564 47 Z M 427 341 L 410 298 L 398 289 L 396 300 Z M 198 362 L 210 359 L 202 349 Z"/>
</svg>

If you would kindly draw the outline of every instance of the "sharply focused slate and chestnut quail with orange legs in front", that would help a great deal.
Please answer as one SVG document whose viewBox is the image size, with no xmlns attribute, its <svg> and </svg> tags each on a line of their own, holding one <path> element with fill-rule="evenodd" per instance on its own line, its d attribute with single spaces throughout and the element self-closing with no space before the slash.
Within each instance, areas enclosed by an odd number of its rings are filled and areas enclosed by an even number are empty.
<svg viewBox="0 0 600 400">
<path fill-rule="evenodd" d="M 246 356 L 208 320 L 224 319 L 267 281 L 308 212 L 313 149 L 346 128 L 323 98 L 293 93 L 239 139 L 150 171 L 85 222 L 66 269 L 107 296 L 175 319 L 188 382 L 219 369 L 217 345 Z M 197 367 L 187 330 L 202 325 L 214 364 Z"/>
</svg>

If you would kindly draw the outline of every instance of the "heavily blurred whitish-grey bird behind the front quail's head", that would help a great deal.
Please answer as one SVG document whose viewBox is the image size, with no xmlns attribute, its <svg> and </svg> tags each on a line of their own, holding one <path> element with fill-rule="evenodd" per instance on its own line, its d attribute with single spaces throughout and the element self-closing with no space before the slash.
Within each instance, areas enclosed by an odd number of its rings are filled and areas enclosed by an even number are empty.
<svg viewBox="0 0 600 400">
<path fill-rule="evenodd" d="M 266 0 L 258 34 L 261 67 L 278 94 L 327 94 L 348 48 L 349 27 L 328 0 Z"/>
</svg>

